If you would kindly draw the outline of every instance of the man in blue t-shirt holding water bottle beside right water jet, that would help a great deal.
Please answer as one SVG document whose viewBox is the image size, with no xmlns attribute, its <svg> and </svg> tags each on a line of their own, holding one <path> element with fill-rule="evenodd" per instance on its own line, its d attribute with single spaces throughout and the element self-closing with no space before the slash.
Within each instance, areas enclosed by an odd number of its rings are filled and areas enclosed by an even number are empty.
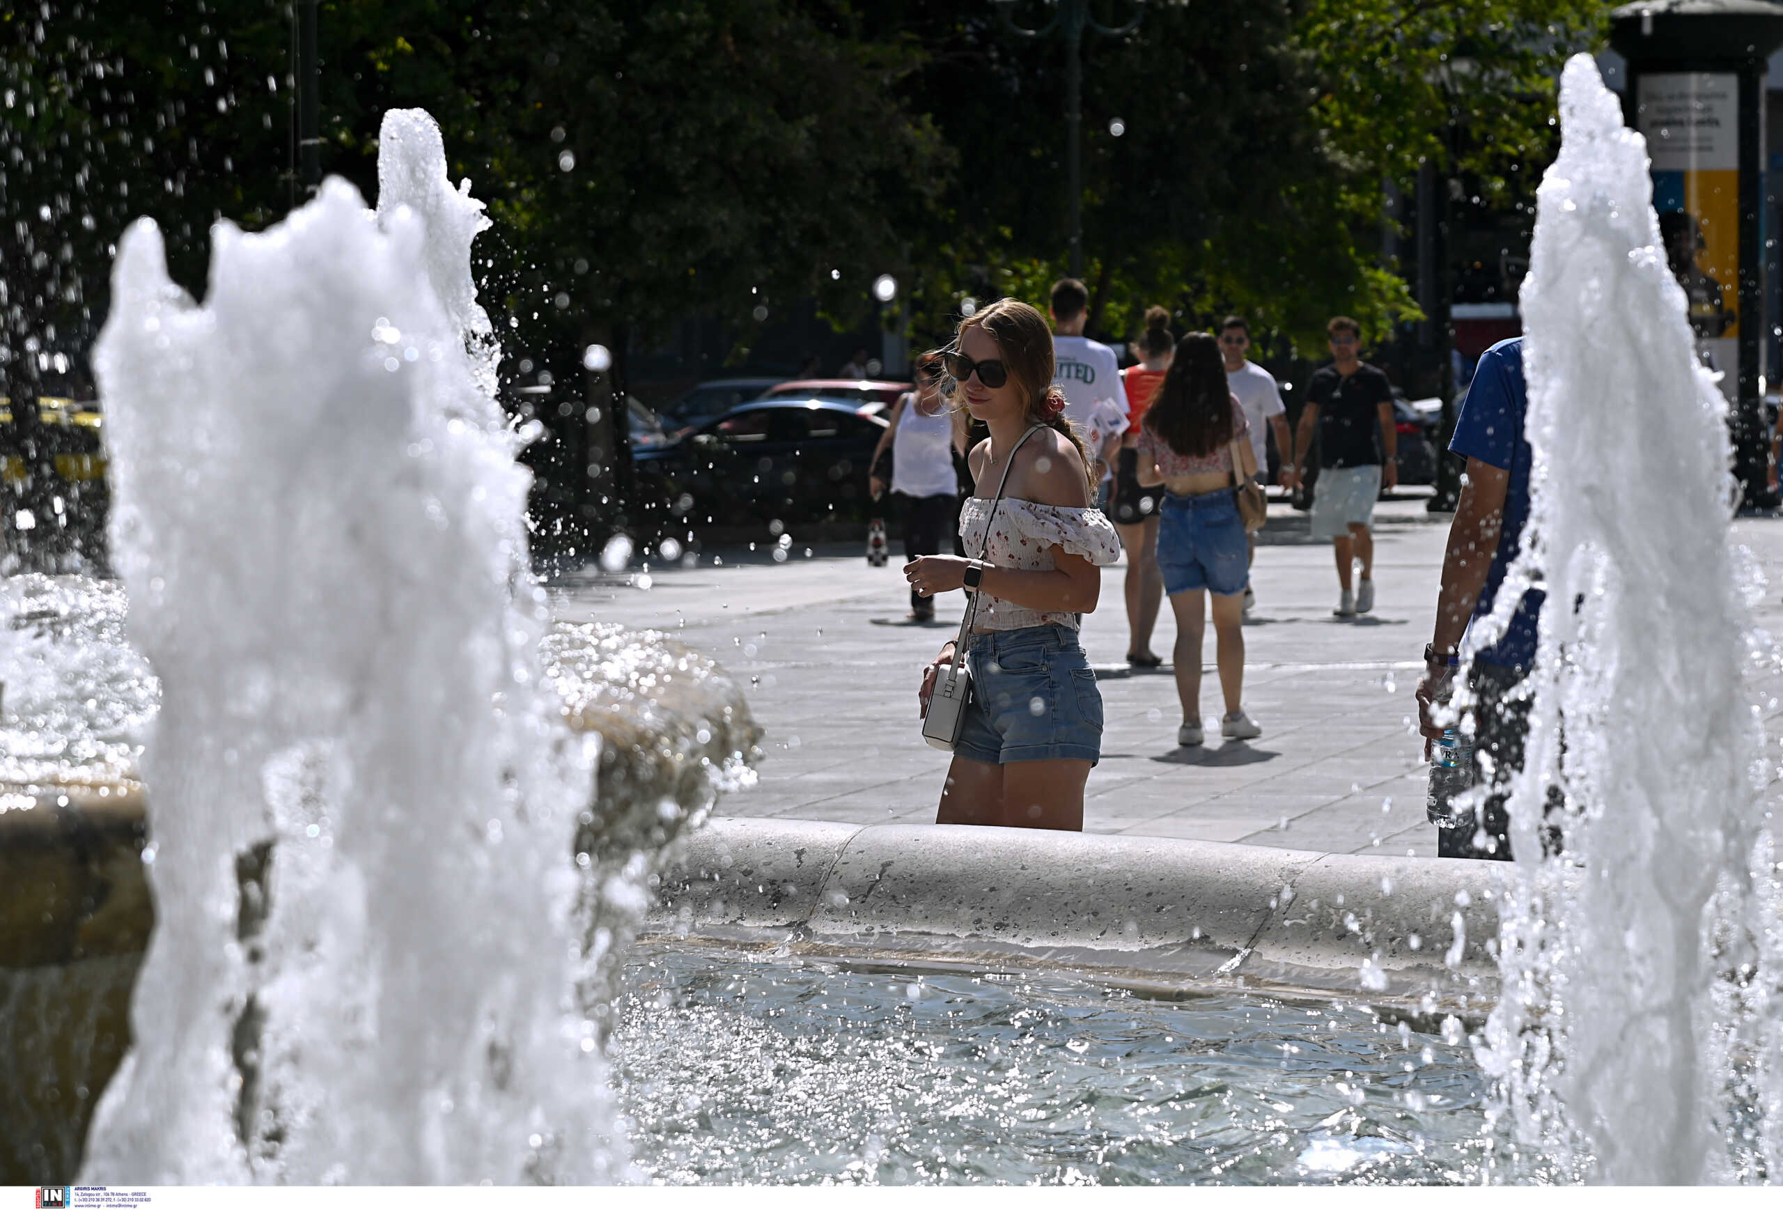
<svg viewBox="0 0 1783 1210">
<path fill-rule="evenodd" d="M 1450 440 L 1450 449 L 1467 458 L 1467 478 L 1462 479 L 1460 503 L 1450 524 L 1437 622 L 1430 645 L 1425 647 L 1425 677 L 1417 684 L 1419 724 L 1426 741 L 1442 738 L 1432 709 L 1448 695 L 1453 675 L 1450 661 L 1460 650 L 1467 627 L 1492 611 L 1530 517 L 1532 454 L 1523 437 L 1526 406 L 1523 337 L 1500 340 L 1480 356 Z M 1505 809 L 1508 781 L 1523 768 L 1523 741 L 1530 731 L 1530 704 L 1514 690 L 1535 663 L 1541 608 L 1542 593 L 1532 588 L 1500 640 L 1475 654 L 1469 672 L 1475 695 L 1473 738 L 1476 754 L 1492 757 L 1491 791 L 1480 818 L 1464 811 L 1434 820 L 1439 829 L 1437 854 L 1442 857 L 1510 861 L 1510 818 Z M 1425 750 L 1428 756 L 1428 743 Z"/>
</svg>

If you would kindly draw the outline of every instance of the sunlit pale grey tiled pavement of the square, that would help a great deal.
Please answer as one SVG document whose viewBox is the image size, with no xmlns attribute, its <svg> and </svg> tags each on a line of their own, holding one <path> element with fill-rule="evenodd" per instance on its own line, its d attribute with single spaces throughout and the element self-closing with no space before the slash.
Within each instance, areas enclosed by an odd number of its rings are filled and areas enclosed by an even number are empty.
<svg viewBox="0 0 1783 1210">
<path fill-rule="evenodd" d="M 1179 748 L 1168 670 L 1104 679 L 1107 718 L 1086 830 L 1434 855 L 1412 690 L 1448 519 L 1423 504 L 1378 506 L 1376 606 L 1355 622 L 1332 617 L 1330 545 L 1311 540 L 1303 513 L 1273 504 L 1253 570 L 1257 609 L 1245 627 L 1245 706 L 1262 736 Z M 1783 585 L 1783 522 L 1742 520 L 1735 540 Z M 722 800 L 722 814 L 933 820 L 947 761 L 922 743 L 915 693 L 922 665 L 959 624 L 957 593 L 941 599 L 940 624 L 902 625 L 908 601 L 897 561 L 870 568 L 856 549 L 824 547 L 809 558 L 804 549 L 793 531 L 790 558 L 774 563 L 763 533 L 761 549 L 720 552 L 717 567 L 710 558 L 695 568 L 651 567 L 647 590 L 615 577 L 571 581 L 553 592 L 555 608 L 571 620 L 676 631 L 752 679 L 751 706 L 767 731 L 760 784 Z M 1084 625 L 1097 665 L 1123 666 L 1123 574 L 1120 565 L 1104 572 L 1102 604 Z M 1783 634 L 1778 592 L 1767 590 L 1765 601 L 1760 620 Z M 1168 656 L 1173 634 L 1166 604 L 1155 650 Z M 1211 633 L 1204 661 L 1204 713 L 1216 718 Z M 1769 713 L 1776 734 L 1778 709 Z"/>
</svg>

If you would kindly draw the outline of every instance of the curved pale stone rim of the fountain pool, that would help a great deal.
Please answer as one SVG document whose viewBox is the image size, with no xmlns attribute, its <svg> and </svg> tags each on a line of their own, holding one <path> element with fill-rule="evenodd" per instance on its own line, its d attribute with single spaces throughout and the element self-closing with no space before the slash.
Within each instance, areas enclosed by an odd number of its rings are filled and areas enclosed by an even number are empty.
<svg viewBox="0 0 1783 1210">
<path fill-rule="evenodd" d="M 665 870 L 645 937 L 1478 1018 L 1498 993 L 1487 941 L 1507 877 L 1173 838 L 722 818 Z"/>
</svg>

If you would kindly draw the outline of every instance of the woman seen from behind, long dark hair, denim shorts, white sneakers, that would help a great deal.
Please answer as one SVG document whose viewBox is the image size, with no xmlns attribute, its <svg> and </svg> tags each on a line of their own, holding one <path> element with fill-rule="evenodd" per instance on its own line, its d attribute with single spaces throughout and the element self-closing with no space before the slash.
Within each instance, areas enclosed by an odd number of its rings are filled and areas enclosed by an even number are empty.
<svg viewBox="0 0 1783 1210">
<path fill-rule="evenodd" d="M 1202 743 L 1202 592 L 1212 597 L 1218 634 L 1220 690 L 1225 718 L 1220 734 L 1252 740 L 1262 727 L 1245 715 L 1245 581 L 1250 544 L 1237 515 L 1232 456 L 1237 472 L 1257 472 L 1246 437 L 1245 408 L 1227 387 L 1220 344 L 1195 331 L 1177 344 L 1164 383 L 1146 408 L 1139 431 L 1139 483 L 1166 488 L 1157 529 L 1157 567 L 1177 615 L 1177 697 L 1182 725 L 1177 743 Z"/>
</svg>

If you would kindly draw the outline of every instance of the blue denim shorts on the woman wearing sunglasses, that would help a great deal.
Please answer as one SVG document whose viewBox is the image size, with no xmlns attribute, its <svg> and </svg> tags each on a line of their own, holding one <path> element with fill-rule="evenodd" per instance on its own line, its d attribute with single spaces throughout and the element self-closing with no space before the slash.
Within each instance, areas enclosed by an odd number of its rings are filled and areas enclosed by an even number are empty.
<svg viewBox="0 0 1783 1210">
<path fill-rule="evenodd" d="M 986 764 L 1102 759 L 1102 691 L 1077 631 L 974 634 L 972 704 L 954 754 Z"/>
</svg>

